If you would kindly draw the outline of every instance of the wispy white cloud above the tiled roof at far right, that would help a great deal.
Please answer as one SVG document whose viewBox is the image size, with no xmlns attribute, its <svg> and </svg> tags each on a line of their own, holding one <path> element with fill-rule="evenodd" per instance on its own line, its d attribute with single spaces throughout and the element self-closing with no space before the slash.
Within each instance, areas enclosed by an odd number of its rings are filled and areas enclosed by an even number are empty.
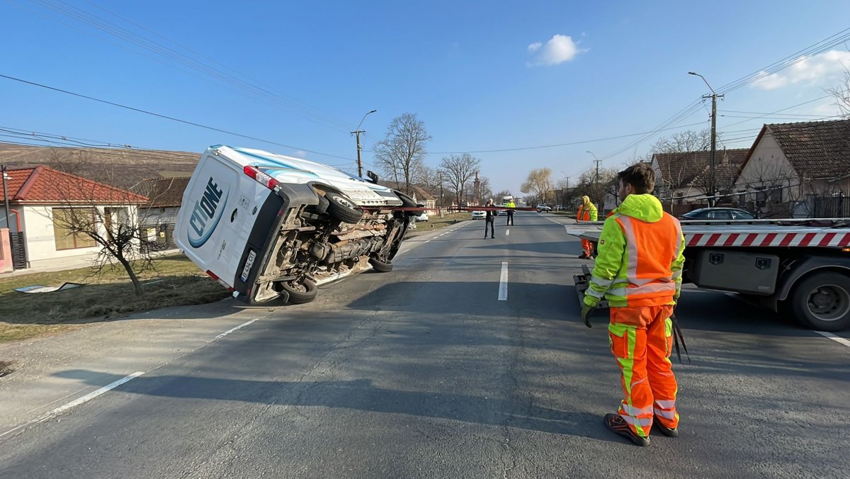
<svg viewBox="0 0 850 479">
<path fill-rule="evenodd" d="M 812 57 L 800 57 L 793 60 L 794 65 L 778 71 L 753 83 L 753 88 L 775 90 L 796 84 L 829 86 L 850 68 L 850 52 L 830 50 Z M 760 73 L 764 73 L 763 71 Z"/>
</svg>

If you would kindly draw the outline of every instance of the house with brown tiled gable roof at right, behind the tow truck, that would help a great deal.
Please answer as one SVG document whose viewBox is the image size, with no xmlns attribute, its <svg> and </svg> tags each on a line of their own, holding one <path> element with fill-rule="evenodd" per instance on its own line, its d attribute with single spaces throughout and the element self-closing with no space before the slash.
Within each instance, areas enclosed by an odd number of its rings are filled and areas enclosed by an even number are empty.
<svg viewBox="0 0 850 479">
<path fill-rule="evenodd" d="M 734 187 L 765 216 L 847 216 L 850 120 L 763 125 Z M 833 202 L 844 208 L 820 208 Z"/>
</svg>

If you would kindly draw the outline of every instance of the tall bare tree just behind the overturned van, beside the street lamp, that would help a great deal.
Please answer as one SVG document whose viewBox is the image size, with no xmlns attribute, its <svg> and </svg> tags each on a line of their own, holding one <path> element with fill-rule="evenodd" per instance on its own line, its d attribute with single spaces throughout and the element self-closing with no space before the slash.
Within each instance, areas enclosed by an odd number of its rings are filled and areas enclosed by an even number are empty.
<svg viewBox="0 0 850 479">
<path fill-rule="evenodd" d="M 414 113 L 405 113 L 395 117 L 387 128 L 387 136 L 375 145 L 375 163 L 383 174 L 391 178 L 403 189 L 411 193 L 422 160 L 425 157 L 425 145 L 431 140 L 425 123 Z M 404 185 L 403 188 L 400 186 Z"/>
</svg>

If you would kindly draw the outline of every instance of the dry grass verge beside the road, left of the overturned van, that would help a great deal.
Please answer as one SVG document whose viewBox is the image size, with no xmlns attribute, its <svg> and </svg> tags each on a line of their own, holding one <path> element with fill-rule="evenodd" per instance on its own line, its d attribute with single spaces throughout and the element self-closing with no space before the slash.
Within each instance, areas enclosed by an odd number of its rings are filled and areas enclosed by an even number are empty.
<svg viewBox="0 0 850 479">
<path fill-rule="evenodd" d="M 123 270 L 105 271 L 100 277 L 89 275 L 90 270 L 82 268 L 0 279 L 0 342 L 64 332 L 139 311 L 200 305 L 229 295 L 183 255 L 163 258 L 156 272 L 141 276 L 144 295 L 139 297 Z M 54 293 L 14 291 L 32 284 L 61 286 L 64 282 L 87 286 Z"/>
</svg>

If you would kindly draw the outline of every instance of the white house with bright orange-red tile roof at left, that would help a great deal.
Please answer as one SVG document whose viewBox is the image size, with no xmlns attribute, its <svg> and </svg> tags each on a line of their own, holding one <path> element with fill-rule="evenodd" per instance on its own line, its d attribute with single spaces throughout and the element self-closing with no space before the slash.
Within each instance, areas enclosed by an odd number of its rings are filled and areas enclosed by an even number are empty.
<svg viewBox="0 0 850 479">
<path fill-rule="evenodd" d="M 111 222 L 138 221 L 139 205 L 148 202 L 131 191 L 46 166 L 7 169 L 6 175 L 8 191 L 0 184 L 0 195 L 8 199 L 9 208 L 6 212 L 0 203 L 0 228 L 8 227 L 13 235 L 22 233 L 20 257 L 26 265 L 16 268 L 94 259 L 100 246 L 88 235 L 70 233 L 63 219 L 91 214 L 107 228 Z"/>
</svg>

